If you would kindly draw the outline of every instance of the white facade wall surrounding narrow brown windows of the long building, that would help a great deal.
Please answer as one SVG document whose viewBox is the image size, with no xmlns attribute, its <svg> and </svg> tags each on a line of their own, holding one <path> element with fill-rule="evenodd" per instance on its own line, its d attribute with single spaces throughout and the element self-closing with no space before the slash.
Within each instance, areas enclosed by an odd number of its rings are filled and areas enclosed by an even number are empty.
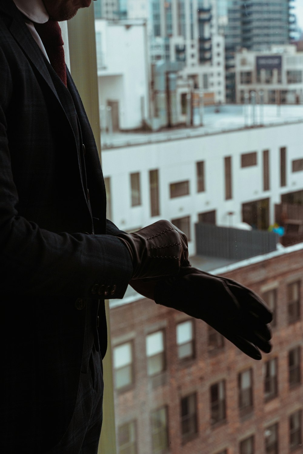
<svg viewBox="0 0 303 454">
<path fill-rule="evenodd" d="M 279 125 L 170 140 L 102 151 L 104 177 L 111 178 L 113 222 L 124 230 L 143 227 L 158 219 L 191 216 L 191 235 L 198 213 L 217 210 L 217 223 L 228 226 L 227 213 L 235 212 L 233 224 L 242 221 L 242 203 L 270 198 L 270 222 L 280 194 L 303 189 L 303 172 L 292 173 L 291 161 L 303 158 L 303 124 Z M 280 147 L 287 147 L 287 186 L 280 188 Z M 263 191 L 262 152 L 270 150 L 270 191 Z M 241 168 L 242 153 L 258 153 L 258 164 Z M 224 157 L 232 156 L 233 199 L 224 200 Z M 197 161 L 205 161 L 206 191 L 196 192 Z M 160 216 L 150 217 L 149 170 L 159 169 Z M 129 173 L 141 173 L 142 205 L 131 207 Z M 190 181 L 190 195 L 169 198 L 169 184 Z M 195 253 L 194 241 L 189 245 Z"/>
</svg>

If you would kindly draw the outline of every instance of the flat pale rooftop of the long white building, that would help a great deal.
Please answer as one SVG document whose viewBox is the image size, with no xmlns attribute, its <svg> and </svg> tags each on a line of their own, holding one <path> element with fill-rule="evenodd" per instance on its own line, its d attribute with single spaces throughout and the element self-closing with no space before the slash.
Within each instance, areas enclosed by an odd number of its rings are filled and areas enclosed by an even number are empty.
<svg viewBox="0 0 303 454">
<path fill-rule="evenodd" d="M 189 137 L 203 137 L 248 128 L 264 128 L 289 123 L 303 122 L 303 105 L 256 105 L 255 122 L 253 123 L 252 105 L 223 105 L 204 107 L 203 126 L 167 128 L 159 132 L 114 132 L 101 133 L 103 150 L 144 143 L 159 143 Z M 199 112 L 194 114 L 194 123 L 199 122 Z"/>
</svg>

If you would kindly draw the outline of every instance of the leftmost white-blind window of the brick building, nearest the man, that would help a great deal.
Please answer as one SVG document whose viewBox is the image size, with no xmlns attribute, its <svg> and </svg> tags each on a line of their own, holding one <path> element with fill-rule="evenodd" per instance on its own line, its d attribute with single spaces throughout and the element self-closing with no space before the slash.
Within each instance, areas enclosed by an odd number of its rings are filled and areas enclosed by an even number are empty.
<svg viewBox="0 0 303 454">
<path fill-rule="evenodd" d="M 132 343 L 114 347 L 114 377 L 116 390 L 121 390 L 134 382 Z"/>
</svg>

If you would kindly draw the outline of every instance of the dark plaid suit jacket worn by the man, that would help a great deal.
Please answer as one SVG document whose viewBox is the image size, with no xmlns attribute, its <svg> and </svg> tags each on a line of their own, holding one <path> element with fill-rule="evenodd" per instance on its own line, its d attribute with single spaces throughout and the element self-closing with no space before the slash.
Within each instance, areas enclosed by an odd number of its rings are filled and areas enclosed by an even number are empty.
<svg viewBox="0 0 303 454">
<path fill-rule="evenodd" d="M 60 440 L 86 348 L 85 310 L 76 301 L 121 298 L 131 278 L 129 252 L 105 213 L 98 153 L 73 80 L 68 74 L 66 89 L 15 4 L 0 0 L 0 449 L 6 454 L 44 452 Z M 104 301 L 99 307 L 104 356 Z"/>
</svg>

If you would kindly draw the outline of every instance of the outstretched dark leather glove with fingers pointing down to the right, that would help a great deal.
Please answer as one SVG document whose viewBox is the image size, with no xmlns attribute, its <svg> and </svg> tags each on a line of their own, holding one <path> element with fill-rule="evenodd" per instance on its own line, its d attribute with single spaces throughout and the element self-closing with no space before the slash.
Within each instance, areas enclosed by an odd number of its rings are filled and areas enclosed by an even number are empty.
<svg viewBox="0 0 303 454">
<path fill-rule="evenodd" d="M 262 358 L 260 350 L 271 350 L 271 312 L 256 293 L 232 279 L 184 266 L 177 277 L 157 283 L 154 301 L 206 321 L 253 359 Z"/>
</svg>

